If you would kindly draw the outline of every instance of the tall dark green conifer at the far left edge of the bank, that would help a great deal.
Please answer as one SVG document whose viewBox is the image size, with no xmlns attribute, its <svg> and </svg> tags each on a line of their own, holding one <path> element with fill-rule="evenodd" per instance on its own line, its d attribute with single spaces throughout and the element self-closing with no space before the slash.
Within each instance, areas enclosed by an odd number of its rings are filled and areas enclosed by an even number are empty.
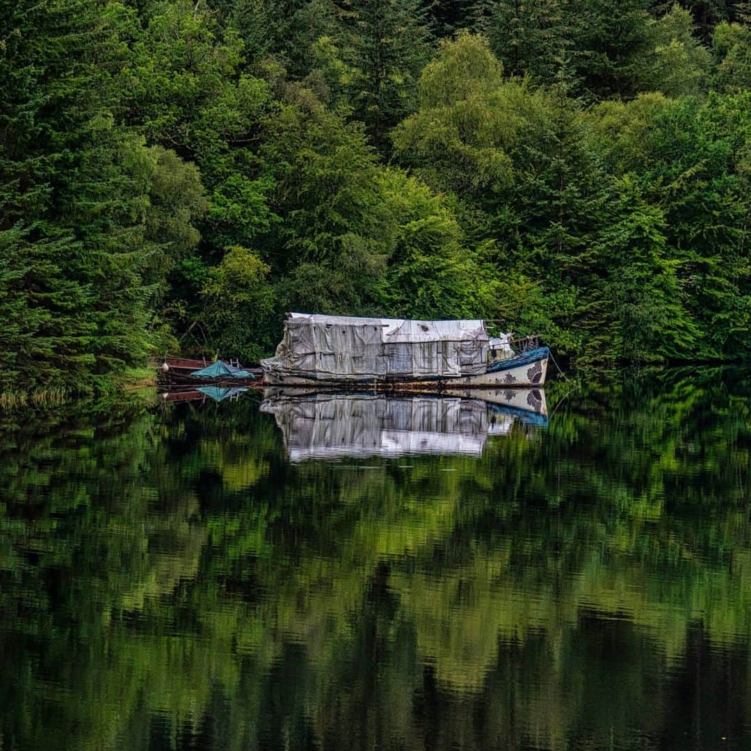
<svg viewBox="0 0 751 751">
<path fill-rule="evenodd" d="M 146 354 L 149 167 L 113 115 L 130 21 L 88 0 L 0 3 L 6 386 L 80 386 Z"/>
</svg>

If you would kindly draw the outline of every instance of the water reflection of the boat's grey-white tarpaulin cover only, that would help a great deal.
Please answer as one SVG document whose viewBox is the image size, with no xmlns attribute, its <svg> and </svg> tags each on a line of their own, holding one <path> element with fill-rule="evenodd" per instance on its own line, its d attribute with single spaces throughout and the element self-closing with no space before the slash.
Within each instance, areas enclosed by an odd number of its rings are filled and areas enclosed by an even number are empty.
<svg viewBox="0 0 751 751">
<path fill-rule="evenodd" d="M 267 398 L 291 461 L 404 454 L 479 457 L 490 424 L 480 400 L 324 395 Z"/>
</svg>

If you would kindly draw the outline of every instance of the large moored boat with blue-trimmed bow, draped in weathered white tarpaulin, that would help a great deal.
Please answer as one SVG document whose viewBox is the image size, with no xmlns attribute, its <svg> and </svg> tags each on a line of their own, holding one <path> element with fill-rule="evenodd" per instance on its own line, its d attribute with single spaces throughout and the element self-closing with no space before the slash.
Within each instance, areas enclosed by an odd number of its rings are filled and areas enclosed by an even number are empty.
<svg viewBox="0 0 751 751">
<path fill-rule="evenodd" d="M 517 340 L 526 345 L 530 339 Z M 318 388 L 514 388 L 544 384 L 547 347 L 514 351 L 481 320 L 412 321 L 288 313 L 270 385 Z"/>
</svg>

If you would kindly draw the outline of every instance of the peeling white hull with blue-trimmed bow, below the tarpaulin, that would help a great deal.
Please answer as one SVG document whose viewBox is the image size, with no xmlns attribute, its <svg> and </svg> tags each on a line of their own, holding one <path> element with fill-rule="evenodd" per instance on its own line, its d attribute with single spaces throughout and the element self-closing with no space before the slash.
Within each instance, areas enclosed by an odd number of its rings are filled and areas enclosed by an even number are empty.
<svg viewBox="0 0 751 751">
<path fill-rule="evenodd" d="M 535 354 L 537 352 L 538 354 Z M 279 373 L 272 370 L 264 372 L 264 381 L 274 386 L 313 386 L 315 388 L 534 388 L 544 385 L 547 374 L 547 347 L 538 351 L 512 357 L 494 363 L 493 366 L 477 375 L 460 375 L 456 377 L 427 376 L 425 378 L 363 378 L 363 379 L 327 379 L 314 378 L 309 375 Z"/>
</svg>

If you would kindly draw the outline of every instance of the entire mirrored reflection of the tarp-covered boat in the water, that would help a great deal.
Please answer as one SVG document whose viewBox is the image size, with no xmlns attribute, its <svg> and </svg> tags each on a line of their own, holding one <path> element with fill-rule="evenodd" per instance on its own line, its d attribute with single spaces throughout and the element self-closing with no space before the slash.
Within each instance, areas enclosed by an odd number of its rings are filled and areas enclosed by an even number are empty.
<svg viewBox="0 0 751 751">
<path fill-rule="evenodd" d="M 542 389 L 446 395 L 321 394 L 269 388 L 261 412 L 276 418 L 289 460 L 462 454 L 487 436 L 547 425 Z"/>
</svg>

